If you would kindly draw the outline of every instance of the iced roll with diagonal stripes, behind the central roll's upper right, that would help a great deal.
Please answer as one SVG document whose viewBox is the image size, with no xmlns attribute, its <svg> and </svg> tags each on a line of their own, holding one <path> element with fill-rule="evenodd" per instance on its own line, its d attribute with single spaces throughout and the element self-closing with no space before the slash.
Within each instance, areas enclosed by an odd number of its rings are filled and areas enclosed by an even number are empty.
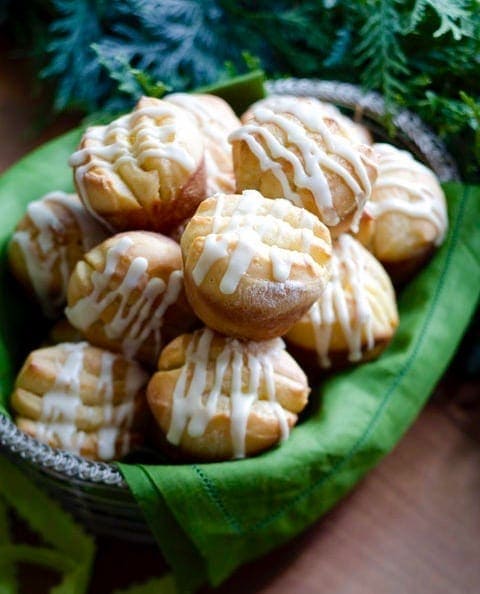
<svg viewBox="0 0 480 594">
<path fill-rule="evenodd" d="M 352 141 L 318 101 L 260 102 L 229 138 L 237 191 L 286 198 L 317 215 L 332 236 L 356 226 L 377 176 L 375 153 Z"/>
</svg>

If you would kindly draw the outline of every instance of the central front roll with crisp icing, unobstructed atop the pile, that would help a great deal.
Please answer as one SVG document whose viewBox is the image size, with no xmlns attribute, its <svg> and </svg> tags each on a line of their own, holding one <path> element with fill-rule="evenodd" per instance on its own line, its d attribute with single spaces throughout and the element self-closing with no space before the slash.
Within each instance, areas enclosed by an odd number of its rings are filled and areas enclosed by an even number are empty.
<svg viewBox="0 0 480 594">
<path fill-rule="evenodd" d="M 202 202 L 181 248 L 197 316 L 218 332 L 251 340 L 284 334 L 330 275 L 325 225 L 288 200 L 255 190 Z"/>
</svg>

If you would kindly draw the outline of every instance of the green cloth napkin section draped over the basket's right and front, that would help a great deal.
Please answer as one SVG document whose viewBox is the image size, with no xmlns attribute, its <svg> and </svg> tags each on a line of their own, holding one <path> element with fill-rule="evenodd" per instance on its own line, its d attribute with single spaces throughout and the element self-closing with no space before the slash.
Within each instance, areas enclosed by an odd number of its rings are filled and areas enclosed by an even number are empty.
<svg viewBox="0 0 480 594">
<path fill-rule="evenodd" d="M 444 190 L 447 241 L 401 293 L 390 348 L 313 390 L 285 444 L 242 461 L 119 465 L 183 591 L 219 584 L 320 518 L 418 415 L 480 293 L 480 187 Z"/>
</svg>

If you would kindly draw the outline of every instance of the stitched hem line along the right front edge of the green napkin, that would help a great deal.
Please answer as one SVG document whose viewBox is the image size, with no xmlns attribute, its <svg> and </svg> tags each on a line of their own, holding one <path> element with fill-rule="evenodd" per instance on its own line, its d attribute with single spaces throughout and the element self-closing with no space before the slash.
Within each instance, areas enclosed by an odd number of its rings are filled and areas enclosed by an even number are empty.
<svg viewBox="0 0 480 594">
<path fill-rule="evenodd" d="M 457 247 L 460 226 L 461 226 L 461 223 L 463 222 L 463 217 L 464 217 L 464 213 L 465 213 L 465 205 L 467 203 L 468 196 L 470 195 L 470 189 L 471 188 L 469 186 L 467 186 L 464 189 L 464 192 L 463 192 L 460 204 L 459 204 L 457 216 L 455 218 L 451 241 L 450 241 L 450 244 L 448 245 L 448 252 L 447 252 L 446 259 L 445 259 L 445 264 L 443 266 L 443 270 L 441 272 L 440 278 L 437 283 L 437 287 L 435 290 L 435 295 L 434 295 L 434 298 L 432 301 L 432 305 L 430 306 L 427 317 L 425 319 L 422 330 L 420 332 L 420 336 L 413 348 L 412 354 L 410 355 L 410 357 L 409 357 L 407 363 L 405 364 L 405 366 L 403 367 L 403 369 L 395 377 L 395 380 L 391 384 L 390 388 L 385 393 L 385 396 L 383 397 L 379 407 L 377 408 L 377 411 L 376 411 L 373 419 L 370 421 L 368 426 L 365 428 L 363 435 L 352 446 L 352 448 L 350 449 L 348 454 L 332 468 L 332 470 L 330 471 L 329 474 L 327 474 L 326 476 L 323 476 L 317 482 L 310 485 L 310 487 L 308 487 L 307 489 L 305 489 L 304 491 L 299 493 L 294 499 L 290 500 L 288 503 L 283 505 L 273 515 L 263 518 L 262 520 L 258 521 L 257 523 L 253 524 L 250 527 L 242 528 L 241 523 L 237 520 L 237 518 L 229 511 L 228 507 L 225 505 L 225 503 L 224 503 L 220 493 L 218 492 L 217 487 L 215 486 L 214 482 L 212 481 L 212 479 L 210 479 L 210 477 L 208 477 L 208 475 L 205 474 L 198 466 L 193 465 L 194 470 L 199 475 L 199 477 L 205 487 L 207 495 L 210 497 L 210 499 L 213 501 L 213 503 L 216 504 L 216 506 L 218 507 L 218 509 L 224 516 L 224 518 L 227 520 L 227 523 L 230 525 L 231 528 L 233 528 L 235 530 L 235 532 L 238 532 L 239 534 L 243 534 L 243 535 L 253 534 L 255 532 L 262 530 L 263 528 L 266 528 L 269 524 L 271 524 L 272 522 L 277 520 L 283 514 L 287 513 L 299 501 L 301 501 L 302 499 L 311 495 L 311 493 L 313 491 L 315 491 L 317 488 L 321 487 L 323 484 L 325 484 L 331 478 L 333 478 L 335 476 L 336 472 L 342 466 L 344 466 L 345 464 L 348 464 L 348 462 L 350 462 L 352 460 L 352 458 L 357 453 L 358 449 L 362 446 L 362 444 L 365 442 L 365 440 L 368 439 L 369 435 L 374 430 L 375 425 L 377 424 L 382 412 L 384 411 L 385 407 L 390 402 L 390 399 L 393 396 L 393 394 L 395 393 L 400 382 L 402 381 L 402 379 L 404 378 L 406 373 L 409 371 L 413 361 L 416 358 L 418 350 L 420 349 L 420 346 L 423 343 L 425 333 L 428 329 L 428 326 L 430 325 L 433 313 L 434 313 L 437 303 L 438 303 L 438 299 L 440 297 L 443 286 L 445 284 L 446 273 L 450 267 L 453 253 Z"/>
</svg>

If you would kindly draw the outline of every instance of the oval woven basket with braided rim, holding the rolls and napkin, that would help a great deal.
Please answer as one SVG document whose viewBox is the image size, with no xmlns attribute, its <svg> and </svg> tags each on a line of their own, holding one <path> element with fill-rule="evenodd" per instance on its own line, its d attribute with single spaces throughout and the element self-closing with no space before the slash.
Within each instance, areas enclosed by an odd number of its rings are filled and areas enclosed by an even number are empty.
<svg viewBox="0 0 480 594">
<path fill-rule="evenodd" d="M 376 93 L 365 93 L 345 83 L 291 78 L 267 82 L 266 91 L 313 96 L 334 103 L 367 126 L 376 139 L 411 151 L 440 181 L 459 179 L 456 165 L 442 142 L 415 114 L 398 112 L 392 118 L 395 136 L 388 135 L 383 123 L 385 102 Z M 2 454 L 23 468 L 91 532 L 135 542 L 153 541 L 140 508 L 114 464 L 92 462 L 40 444 L 1 413 L 0 446 Z"/>
</svg>

